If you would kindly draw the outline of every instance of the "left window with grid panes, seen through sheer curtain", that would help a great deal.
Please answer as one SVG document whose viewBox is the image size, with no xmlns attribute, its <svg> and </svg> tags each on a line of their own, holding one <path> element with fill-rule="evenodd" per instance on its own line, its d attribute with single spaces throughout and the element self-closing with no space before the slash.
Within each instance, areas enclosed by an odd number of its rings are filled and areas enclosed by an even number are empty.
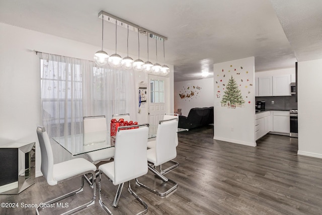
<svg viewBox="0 0 322 215">
<path fill-rule="evenodd" d="M 82 130 L 83 86 L 79 62 L 41 59 L 41 111 L 43 125 L 54 136 Z M 58 128 L 58 129 L 57 129 Z"/>
</svg>

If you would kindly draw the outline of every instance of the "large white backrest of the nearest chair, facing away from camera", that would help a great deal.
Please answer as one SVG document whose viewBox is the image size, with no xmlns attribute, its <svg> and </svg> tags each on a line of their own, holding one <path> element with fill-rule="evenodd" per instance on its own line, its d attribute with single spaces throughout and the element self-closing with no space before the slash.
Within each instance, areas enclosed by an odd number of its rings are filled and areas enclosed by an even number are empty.
<svg viewBox="0 0 322 215">
<path fill-rule="evenodd" d="M 114 185 L 147 173 L 148 124 L 135 129 L 118 130 L 115 139 Z M 133 126 L 126 126 L 133 127 Z"/>
</svg>

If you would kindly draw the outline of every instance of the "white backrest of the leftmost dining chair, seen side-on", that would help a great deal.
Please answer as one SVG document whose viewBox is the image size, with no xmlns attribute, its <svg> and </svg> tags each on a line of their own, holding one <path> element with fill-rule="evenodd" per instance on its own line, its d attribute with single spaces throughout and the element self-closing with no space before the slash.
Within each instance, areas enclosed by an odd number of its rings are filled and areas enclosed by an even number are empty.
<svg viewBox="0 0 322 215">
<path fill-rule="evenodd" d="M 37 126 L 37 136 L 41 153 L 41 172 L 49 185 L 56 185 L 53 179 L 54 158 L 47 131 L 43 126 Z"/>
</svg>

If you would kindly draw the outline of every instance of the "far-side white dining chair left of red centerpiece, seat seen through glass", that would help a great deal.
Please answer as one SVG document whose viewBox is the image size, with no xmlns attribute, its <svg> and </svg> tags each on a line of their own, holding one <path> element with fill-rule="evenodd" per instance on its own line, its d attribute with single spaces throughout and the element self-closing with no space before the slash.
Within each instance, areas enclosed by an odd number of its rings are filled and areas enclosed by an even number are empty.
<svg viewBox="0 0 322 215">
<path fill-rule="evenodd" d="M 84 133 L 107 131 L 105 116 L 85 116 L 83 118 Z M 89 152 L 87 155 L 92 160 L 93 164 L 98 164 L 101 161 L 109 161 L 114 157 L 114 147 L 102 149 L 94 152 Z"/>
</svg>

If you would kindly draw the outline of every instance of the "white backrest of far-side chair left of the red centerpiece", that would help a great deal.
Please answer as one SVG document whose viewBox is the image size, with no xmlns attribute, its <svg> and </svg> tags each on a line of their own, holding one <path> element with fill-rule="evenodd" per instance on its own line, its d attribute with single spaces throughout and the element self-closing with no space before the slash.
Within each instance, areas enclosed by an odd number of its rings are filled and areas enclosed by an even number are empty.
<svg viewBox="0 0 322 215">
<path fill-rule="evenodd" d="M 105 116 L 85 116 L 83 129 L 84 133 L 107 130 Z"/>
</svg>

